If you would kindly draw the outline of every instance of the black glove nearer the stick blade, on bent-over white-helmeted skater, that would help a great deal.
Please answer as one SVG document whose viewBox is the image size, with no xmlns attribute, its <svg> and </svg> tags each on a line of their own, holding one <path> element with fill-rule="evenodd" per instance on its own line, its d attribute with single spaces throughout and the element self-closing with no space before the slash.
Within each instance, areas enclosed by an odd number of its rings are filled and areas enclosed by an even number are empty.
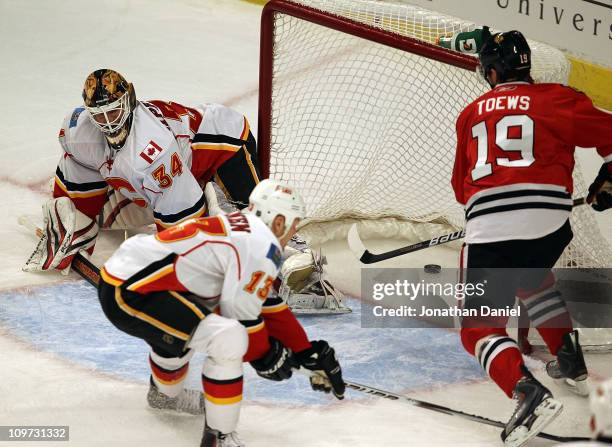
<svg viewBox="0 0 612 447">
<path fill-rule="evenodd" d="M 312 341 L 311 345 L 310 348 L 295 354 L 300 366 L 314 372 L 310 376 L 310 386 L 315 391 L 331 391 L 338 399 L 344 399 L 346 386 L 334 348 L 325 340 Z"/>
</svg>

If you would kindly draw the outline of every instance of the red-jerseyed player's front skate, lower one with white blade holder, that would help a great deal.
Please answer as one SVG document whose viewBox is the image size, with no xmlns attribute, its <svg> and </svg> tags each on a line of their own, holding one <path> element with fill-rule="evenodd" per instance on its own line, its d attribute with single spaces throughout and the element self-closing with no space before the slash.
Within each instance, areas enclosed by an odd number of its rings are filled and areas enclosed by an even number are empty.
<svg viewBox="0 0 612 447">
<path fill-rule="evenodd" d="M 540 433 L 563 409 L 551 392 L 524 368 L 523 378 L 514 388 L 517 404 L 501 434 L 506 447 L 520 447 Z"/>
</svg>

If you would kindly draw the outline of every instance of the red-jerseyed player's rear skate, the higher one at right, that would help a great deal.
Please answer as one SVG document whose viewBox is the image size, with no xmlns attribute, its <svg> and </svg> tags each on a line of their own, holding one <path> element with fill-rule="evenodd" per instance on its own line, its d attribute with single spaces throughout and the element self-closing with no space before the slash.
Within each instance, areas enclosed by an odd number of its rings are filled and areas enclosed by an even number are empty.
<svg viewBox="0 0 612 447">
<path fill-rule="evenodd" d="M 563 336 L 563 345 L 557 352 L 557 359 L 547 363 L 546 372 L 557 383 L 572 392 L 580 396 L 589 395 L 588 371 L 577 330 Z"/>
</svg>

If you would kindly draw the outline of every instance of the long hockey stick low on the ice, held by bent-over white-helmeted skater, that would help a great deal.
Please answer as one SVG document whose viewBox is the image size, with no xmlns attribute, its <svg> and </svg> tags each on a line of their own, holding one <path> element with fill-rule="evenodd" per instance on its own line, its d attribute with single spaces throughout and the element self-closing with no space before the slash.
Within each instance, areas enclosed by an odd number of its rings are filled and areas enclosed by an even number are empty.
<svg viewBox="0 0 612 447">
<path fill-rule="evenodd" d="M 313 375 L 317 374 L 316 372 L 308 371 L 306 369 L 300 368 L 296 370 L 303 375 Z M 362 385 L 357 382 L 353 382 L 350 380 L 345 380 L 344 384 L 347 388 L 355 391 L 359 391 L 360 393 L 371 394 L 372 396 L 382 397 L 383 399 L 395 400 L 398 402 L 402 402 L 404 404 L 412 405 L 414 407 L 425 408 L 426 410 L 435 411 L 438 413 L 444 413 L 449 416 L 457 416 L 462 419 L 467 419 L 473 422 L 478 422 L 480 424 L 491 425 L 497 428 L 505 428 L 506 424 L 501 421 L 496 421 L 494 419 L 489 419 L 484 416 L 478 416 L 475 414 L 465 413 L 463 411 L 454 410 L 449 407 L 445 407 L 444 405 L 434 404 L 432 402 L 426 402 L 423 400 L 413 399 L 412 397 L 404 396 L 401 394 L 392 393 L 390 391 L 384 391 L 378 388 L 374 388 L 368 385 Z M 539 436 L 543 439 L 548 439 L 550 441 L 555 442 L 575 442 L 575 441 L 588 441 L 590 438 L 580 437 L 580 436 L 559 436 L 553 435 L 550 433 L 540 432 L 536 436 Z"/>
</svg>

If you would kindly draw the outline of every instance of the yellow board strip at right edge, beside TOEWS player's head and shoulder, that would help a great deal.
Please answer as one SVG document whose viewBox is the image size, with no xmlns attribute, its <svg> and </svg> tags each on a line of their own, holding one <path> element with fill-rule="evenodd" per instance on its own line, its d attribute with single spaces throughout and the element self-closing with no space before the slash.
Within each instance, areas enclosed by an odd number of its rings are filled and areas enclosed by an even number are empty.
<svg viewBox="0 0 612 447">
<path fill-rule="evenodd" d="M 612 111 L 612 70 L 566 55 L 572 66 L 569 85 L 593 100 L 593 103 Z"/>
</svg>

